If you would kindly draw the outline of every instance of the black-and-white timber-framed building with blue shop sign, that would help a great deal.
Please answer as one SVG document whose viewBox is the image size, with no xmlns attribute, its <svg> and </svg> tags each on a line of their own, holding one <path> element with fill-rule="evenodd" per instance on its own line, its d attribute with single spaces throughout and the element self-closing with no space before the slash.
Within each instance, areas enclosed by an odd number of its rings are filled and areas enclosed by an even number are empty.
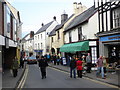
<svg viewBox="0 0 120 90">
<path fill-rule="evenodd" d="M 120 64 L 120 1 L 98 2 L 99 53 Z"/>
</svg>

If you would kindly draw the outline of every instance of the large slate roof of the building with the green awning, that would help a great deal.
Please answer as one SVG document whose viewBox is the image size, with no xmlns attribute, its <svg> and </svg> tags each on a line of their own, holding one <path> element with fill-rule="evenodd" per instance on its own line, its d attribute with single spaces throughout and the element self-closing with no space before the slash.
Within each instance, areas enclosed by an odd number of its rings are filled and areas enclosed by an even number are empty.
<svg viewBox="0 0 120 90">
<path fill-rule="evenodd" d="M 97 9 L 92 6 L 89 9 L 87 9 L 86 11 L 84 11 L 83 13 L 81 13 L 80 15 L 76 16 L 69 24 L 68 26 L 65 28 L 65 31 L 68 31 L 86 21 L 89 20 L 89 18 L 91 16 L 93 16 L 96 13 Z"/>
</svg>

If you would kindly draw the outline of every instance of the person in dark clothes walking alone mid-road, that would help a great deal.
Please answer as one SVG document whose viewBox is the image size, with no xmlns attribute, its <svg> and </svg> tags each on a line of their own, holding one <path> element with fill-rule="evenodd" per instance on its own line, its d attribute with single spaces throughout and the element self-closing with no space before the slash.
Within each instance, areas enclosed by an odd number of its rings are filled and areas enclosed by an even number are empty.
<svg viewBox="0 0 120 90">
<path fill-rule="evenodd" d="M 41 70 L 42 79 L 44 79 L 46 78 L 46 67 L 48 66 L 47 60 L 44 58 L 44 56 L 41 56 L 41 59 L 39 59 L 38 62 Z"/>
</svg>

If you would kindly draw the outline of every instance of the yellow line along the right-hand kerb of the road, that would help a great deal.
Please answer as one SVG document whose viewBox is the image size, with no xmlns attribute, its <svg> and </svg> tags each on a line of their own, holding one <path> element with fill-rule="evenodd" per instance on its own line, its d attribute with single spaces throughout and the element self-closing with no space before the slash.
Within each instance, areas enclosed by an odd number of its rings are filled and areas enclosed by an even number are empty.
<svg viewBox="0 0 120 90">
<path fill-rule="evenodd" d="M 69 72 L 65 72 L 65 71 L 59 70 L 59 69 L 54 68 L 54 67 L 49 67 L 49 68 L 57 70 L 57 71 L 60 71 L 60 72 L 63 72 L 63 73 L 66 73 L 66 74 L 69 74 Z M 104 82 L 101 82 L 101 81 L 93 80 L 93 79 L 90 79 L 90 78 L 87 78 L 87 77 L 83 77 L 83 78 L 87 79 L 87 80 L 90 80 L 90 81 L 93 81 L 95 83 L 99 83 L 99 84 L 102 84 L 102 85 L 106 85 L 106 86 L 112 87 L 112 88 L 119 88 L 117 86 L 114 86 L 114 85 L 111 85 L 111 84 L 107 84 L 107 83 L 104 83 Z"/>
</svg>

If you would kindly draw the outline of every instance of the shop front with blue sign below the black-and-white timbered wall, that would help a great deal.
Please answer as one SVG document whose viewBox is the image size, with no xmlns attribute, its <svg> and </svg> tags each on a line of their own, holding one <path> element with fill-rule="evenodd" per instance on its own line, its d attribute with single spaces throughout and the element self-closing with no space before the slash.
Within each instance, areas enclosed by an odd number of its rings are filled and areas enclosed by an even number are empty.
<svg viewBox="0 0 120 90">
<path fill-rule="evenodd" d="M 103 36 L 99 40 L 100 53 L 106 57 L 107 62 L 120 64 L 120 34 Z"/>
</svg>

